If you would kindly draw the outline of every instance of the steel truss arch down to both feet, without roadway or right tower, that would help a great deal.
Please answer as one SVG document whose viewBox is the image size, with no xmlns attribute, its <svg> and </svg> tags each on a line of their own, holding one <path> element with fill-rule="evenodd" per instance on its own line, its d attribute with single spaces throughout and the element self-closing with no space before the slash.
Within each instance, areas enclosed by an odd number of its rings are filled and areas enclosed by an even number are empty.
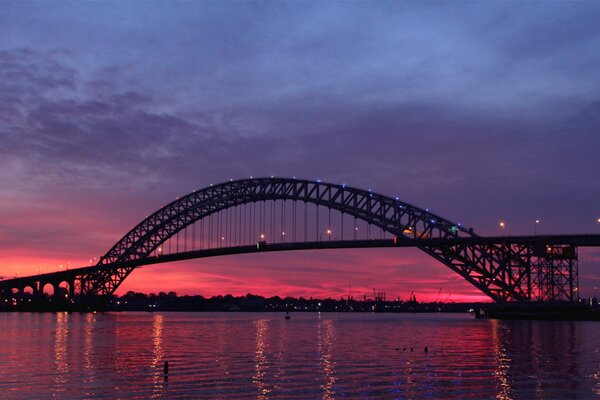
<svg viewBox="0 0 600 400">
<path fill-rule="evenodd" d="M 524 300 L 528 263 L 511 247 L 453 245 L 452 238 L 475 237 L 467 230 L 428 210 L 398 198 L 370 190 L 288 178 L 254 178 L 221 183 L 178 198 L 150 215 L 98 262 L 98 268 L 81 284 L 83 295 L 111 294 L 135 267 L 127 262 L 149 257 L 166 240 L 182 229 L 212 214 L 243 204 L 268 200 L 291 200 L 316 204 L 351 215 L 402 238 L 445 238 L 447 245 L 418 246 L 421 250 L 459 273 L 494 300 Z"/>
</svg>

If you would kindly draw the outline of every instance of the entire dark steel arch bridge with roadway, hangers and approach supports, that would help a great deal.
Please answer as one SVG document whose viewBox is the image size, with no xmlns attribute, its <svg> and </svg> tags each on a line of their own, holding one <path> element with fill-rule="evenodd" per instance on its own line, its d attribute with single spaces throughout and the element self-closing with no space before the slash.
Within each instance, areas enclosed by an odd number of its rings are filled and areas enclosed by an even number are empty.
<svg viewBox="0 0 600 400">
<path fill-rule="evenodd" d="M 132 228 L 95 265 L 0 281 L 0 304 L 98 303 L 143 265 L 369 247 L 416 247 L 498 302 L 576 301 L 581 246 L 600 246 L 600 235 L 483 237 L 371 190 L 319 180 L 250 178 L 177 198 Z M 52 295 L 44 295 L 47 289 Z"/>
</svg>

